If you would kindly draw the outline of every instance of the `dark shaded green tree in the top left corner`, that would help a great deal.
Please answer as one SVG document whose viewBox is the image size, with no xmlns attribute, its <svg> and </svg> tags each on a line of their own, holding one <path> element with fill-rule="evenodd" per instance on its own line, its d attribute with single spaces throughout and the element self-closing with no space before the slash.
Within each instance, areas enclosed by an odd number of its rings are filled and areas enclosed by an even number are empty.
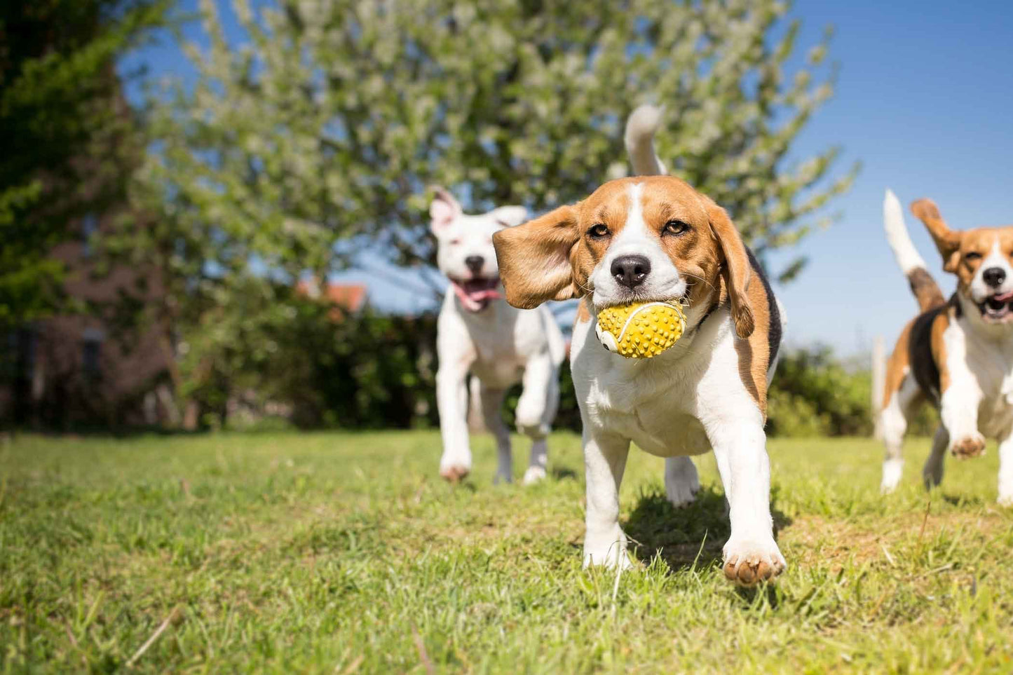
<svg viewBox="0 0 1013 675">
<path fill-rule="evenodd" d="M 0 327 L 63 307 L 55 244 L 125 200 L 141 147 L 114 66 L 168 0 L 0 4 Z"/>
</svg>

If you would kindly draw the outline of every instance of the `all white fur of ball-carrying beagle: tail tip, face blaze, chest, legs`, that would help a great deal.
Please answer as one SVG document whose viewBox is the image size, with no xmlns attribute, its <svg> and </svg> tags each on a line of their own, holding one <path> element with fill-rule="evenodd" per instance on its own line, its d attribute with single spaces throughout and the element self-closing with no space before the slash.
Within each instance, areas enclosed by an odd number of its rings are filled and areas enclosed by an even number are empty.
<svg viewBox="0 0 1013 675">
<path fill-rule="evenodd" d="M 657 108 L 641 106 L 626 125 L 626 148 L 637 173 L 665 173 L 652 144 L 659 118 Z M 686 291 L 686 281 L 647 230 L 641 193 L 641 183 L 630 188 L 626 223 L 591 274 L 595 309 L 680 297 Z M 633 291 L 611 274 L 612 261 L 628 253 L 645 255 L 651 265 Z M 619 526 L 619 486 L 630 442 L 666 458 L 666 495 L 677 507 L 692 502 L 700 488 L 690 457 L 713 450 L 731 519 L 725 562 L 765 562 L 778 572 L 787 567 L 773 536 L 763 414 L 743 383 L 728 308 L 719 308 L 701 324 L 706 305 L 690 307 L 686 334 L 649 360 L 625 359 L 605 350 L 596 338 L 589 339 L 596 332 L 597 317 L 574 326 L 570 367 L 583 423 L 585 567 L 631 565 Z M 783 312 L 781 316 L 783 327 Z M 771 364 L 768 379 L 775 366 Z"/>
</svg>

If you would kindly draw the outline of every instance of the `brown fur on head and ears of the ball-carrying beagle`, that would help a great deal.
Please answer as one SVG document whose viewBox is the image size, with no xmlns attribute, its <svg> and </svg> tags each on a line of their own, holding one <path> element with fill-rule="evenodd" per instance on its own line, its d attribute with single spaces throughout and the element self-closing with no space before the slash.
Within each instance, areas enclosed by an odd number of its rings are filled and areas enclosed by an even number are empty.
<svg viewBox="0 0 1013 675">
<path fill-rule="evenodd" d="M 738 231 L 724 209 L 672 176 L 610 180 L 588 199 L 493 235 L 506 300 L 531 308 L 551 299 L 593 292 L 589 277 L 622 231 L 630 211 L 630 186 L 639 184 L 644 224 L 690 280 L 691 305 L 727 301 L 739 338 L 739 371 L 766 415 L 770 365 L 770 299 L 754 272 Z M 668 223 L 684 226 L 668 234 Z M 577 321 L 591 309 L 577 310 Z"/>
</svg>

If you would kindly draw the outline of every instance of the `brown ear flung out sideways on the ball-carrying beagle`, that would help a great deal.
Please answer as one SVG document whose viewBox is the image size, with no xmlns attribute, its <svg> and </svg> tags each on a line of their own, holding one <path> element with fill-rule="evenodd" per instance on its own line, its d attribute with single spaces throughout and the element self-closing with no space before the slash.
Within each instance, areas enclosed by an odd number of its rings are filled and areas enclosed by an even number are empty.
<svg viewBox="0 0 1013 675">
<path fill-rule="evenodd" d="M 506 302 L 532 309 L 546 300 L 580 295 L 570 265 L 571 250 L 580 238 L 576 224 L 576 209 L 562 206 L 492 235 Z"/>
</svg>

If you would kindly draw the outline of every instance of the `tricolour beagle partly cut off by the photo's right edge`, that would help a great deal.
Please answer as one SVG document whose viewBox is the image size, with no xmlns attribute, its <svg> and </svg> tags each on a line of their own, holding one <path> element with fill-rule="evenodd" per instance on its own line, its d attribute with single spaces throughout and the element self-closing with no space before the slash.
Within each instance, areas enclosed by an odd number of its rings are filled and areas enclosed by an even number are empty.
<svg viewBox="0 0 1013 675">
<path fill-rule="evenodd" d="M 908 419 L 929 400 L 942 424 L 922 471 L 926 488 L 943 477 L 943 459 L 977 457 L 999 441 L 999 504 L 1013 506 L 1013 226 L 949 229 L 931 200 L 911 205 L 925 223 L 957 287 L 943 298 L 887 191 L 886 240 L 911 284 L 921 314 L 901 333 L 886 365 L 879 429 L 886 445 L 881 488 L 897 488 Z"/>
</svg>

